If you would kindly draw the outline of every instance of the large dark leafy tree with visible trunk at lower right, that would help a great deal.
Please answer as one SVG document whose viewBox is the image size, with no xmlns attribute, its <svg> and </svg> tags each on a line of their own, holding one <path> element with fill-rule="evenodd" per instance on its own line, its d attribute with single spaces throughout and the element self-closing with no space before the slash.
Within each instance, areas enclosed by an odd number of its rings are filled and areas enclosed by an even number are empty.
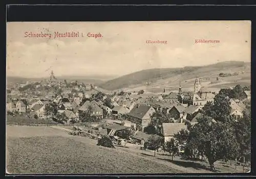
<svg viewBox="0 0 256 179">
<path fill-rule="evenodd" d="M 229 122 L 213 121 L 208 116 L 198 119 L 198 123 L 191 126 L 186 146 L 203 152 L 215 170 L 214 163 L 220 159 L 234 159 L 238 154 L 236 136 Z"/>
</svg>

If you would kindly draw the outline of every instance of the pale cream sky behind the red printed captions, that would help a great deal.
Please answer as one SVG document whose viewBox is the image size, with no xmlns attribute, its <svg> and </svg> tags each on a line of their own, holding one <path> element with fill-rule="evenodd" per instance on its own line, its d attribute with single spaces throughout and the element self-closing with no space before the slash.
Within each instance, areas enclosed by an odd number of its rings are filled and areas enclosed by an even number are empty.
<svg viewBox="0 0 256 179">
<path fill-rule="evenodd" d="M 52 36 L 29 38 L 26 32 Z M 79 37 L 54 38 L 55 32 L 79 32 Z M 150 68 L 251 61 L 250 21 L 8 22 L 6 40 L 7 76 L 29 78 L 47 77 L 51 70 L 56 76 L 121 76 Z"/>
</svg>

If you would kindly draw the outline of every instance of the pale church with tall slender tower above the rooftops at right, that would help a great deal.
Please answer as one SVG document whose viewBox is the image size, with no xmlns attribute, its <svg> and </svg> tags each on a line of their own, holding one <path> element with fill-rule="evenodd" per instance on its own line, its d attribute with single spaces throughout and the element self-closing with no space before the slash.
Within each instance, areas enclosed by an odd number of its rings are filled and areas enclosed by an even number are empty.
<svg viewBox="0 0 256 179">
<path fill-rule="evenodd" d="M 182 92 L 181 86 L 179 87 L 179 99 L 182 104 L 188 104 L 204 107 L 208 101 L 214 101 L 215 92 L 202 91 L 199 77 L 196 78 L 194 83 L 193 92 Z"/>
</svg>

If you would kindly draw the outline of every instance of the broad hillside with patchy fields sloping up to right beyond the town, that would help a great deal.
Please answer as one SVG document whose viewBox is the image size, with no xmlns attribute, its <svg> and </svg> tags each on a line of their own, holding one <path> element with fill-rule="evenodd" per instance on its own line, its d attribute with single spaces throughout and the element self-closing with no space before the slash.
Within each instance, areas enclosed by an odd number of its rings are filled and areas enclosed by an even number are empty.
<svg viewBox="0 0 256 179">
<path fill-rule="evenodd" d="M 183 68 L 157 68 L 147 69 L 131 74 L 121 76 L 119 78 L 107 81 L 100 85 L 101 88 L 108 90 L 136 88 L 146 86 L 150 82 L 150 86 L 158 85 L 177 85 L 179 82 L 185 82 L 189 79 L 199 77 L 215 78 L 220 72 L 241 72 L 250 68 L 250 63 L 241 61 L 220 62 L 206 66 L 188 66 Z"/>
</svg>

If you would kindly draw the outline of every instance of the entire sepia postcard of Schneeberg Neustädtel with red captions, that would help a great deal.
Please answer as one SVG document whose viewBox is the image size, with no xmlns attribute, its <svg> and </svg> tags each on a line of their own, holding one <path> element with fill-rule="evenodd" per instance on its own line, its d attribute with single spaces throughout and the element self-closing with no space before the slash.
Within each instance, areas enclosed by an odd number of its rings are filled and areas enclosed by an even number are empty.
<svg viewBox="0 0 256 179">
<path fill-rule="evenodd" d="M 250 21 L 6 32 L 7 174 L 250 172 Z"/>
</svg>

